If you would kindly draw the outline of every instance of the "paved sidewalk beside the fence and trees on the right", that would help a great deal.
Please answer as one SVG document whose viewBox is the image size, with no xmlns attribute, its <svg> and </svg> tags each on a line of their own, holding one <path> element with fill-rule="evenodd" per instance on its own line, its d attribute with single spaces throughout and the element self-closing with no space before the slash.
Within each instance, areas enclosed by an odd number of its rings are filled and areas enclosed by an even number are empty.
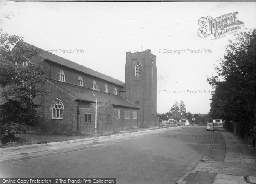
<svg viewBox="0 0 256 184">
<path fill-rule="evenodd" d="M 256 183 L 256 149 L 239 136 L 216 128 L 210 152 L 177 184 Z"/>
</svg>

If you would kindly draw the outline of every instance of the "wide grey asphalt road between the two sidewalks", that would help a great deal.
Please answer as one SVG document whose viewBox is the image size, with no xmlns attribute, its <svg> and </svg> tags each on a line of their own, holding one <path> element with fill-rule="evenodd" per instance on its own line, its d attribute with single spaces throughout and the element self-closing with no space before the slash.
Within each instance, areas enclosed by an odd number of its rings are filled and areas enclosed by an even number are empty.
<svg viewBox="0 0 256 184">
<path fill-rule="evenodd" d="M 153 131 L 102 147 L 0 164 L 0 178 L 116 178 L 118 184 L 175 183 L 209 150 L 205 126 Z"/>
</svg>

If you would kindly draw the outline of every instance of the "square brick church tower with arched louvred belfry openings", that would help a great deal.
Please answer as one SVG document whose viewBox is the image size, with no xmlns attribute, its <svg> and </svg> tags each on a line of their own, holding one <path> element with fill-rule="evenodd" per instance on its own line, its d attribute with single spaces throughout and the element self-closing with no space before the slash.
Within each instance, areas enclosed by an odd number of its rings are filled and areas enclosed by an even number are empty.
<svg viewBox="0 0 256 184">
<path fill-rule="evenodd" d="M 157 65 L 151 50 L 126 53 L 125 97 L 140 107 L 139 125 L 157 125 Z"/>
</svg>

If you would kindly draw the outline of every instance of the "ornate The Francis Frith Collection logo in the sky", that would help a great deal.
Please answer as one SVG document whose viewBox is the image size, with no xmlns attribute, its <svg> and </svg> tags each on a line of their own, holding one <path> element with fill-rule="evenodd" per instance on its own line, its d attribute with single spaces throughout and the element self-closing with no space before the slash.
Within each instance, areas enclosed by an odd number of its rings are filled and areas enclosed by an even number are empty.
<svg viewBox="0 0 256 184">
<path fill-rule="evenodd" d="M 236 14 L 238 14 L 237 11 L 216 18 L 211 16 L 201 17 L 198 20 L 198 25 L 201 26 L 198 29 L 198 36 L 207 37 L 213 35 L 214 39 L 216 39 L 236 31 L 241 31 L 241 24 L 243 22 L 237 20 Z"/>
</svg>

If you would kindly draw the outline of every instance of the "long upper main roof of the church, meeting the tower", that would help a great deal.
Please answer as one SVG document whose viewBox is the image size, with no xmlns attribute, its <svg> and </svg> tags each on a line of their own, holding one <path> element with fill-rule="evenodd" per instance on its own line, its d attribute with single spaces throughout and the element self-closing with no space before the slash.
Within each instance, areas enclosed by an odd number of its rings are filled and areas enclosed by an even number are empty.
<svg viewBox="0 0 256 184">
<path fill-rule="evenodd" d="M 36 51 L 38 51 L 38 55 L 43 57 L 44 59 L 50 60 L 52 62 L 56 62 L 56 63 L 58 63 L 60 65 L 64 65 L 64 66 L 73 68 L 73 69 L 75 69 L 77 71 L 81 71 L 83 73 L 89 74 L 91 76 L 95 76 L 95 77 L 103 79 L 105 81 L 112 82 L 112 83 L 120 85 L 122 87 L 125 86 L 125 84 L 122 81 L 120 81 L 120 80 L 114 79 L 114 78 L 112 78 L 110 76 L 107 76 L 105 74 L 99 73 L 99 72 L 94 71 L 94 70 L 92 70 L 90 68 L 87 68 L 85 66 L 79 65 L 79 64 L 77 64 L 75 62 L 72 62 L 72 61 L 70 61 L 68 59 L 65 59 L 63 57 L 60 57 L 60 56 L 57 56 L 55 54 L 49 53 L 49 52 L 47 52 L 47 51 L 45 51 L 45 50 L 43 50 L 41 48 L 38 48 L 38 47 L 36 47 L 34 45 L 31 45 L 29 43 L 26 43 L 26 42 L 22 42 L 22 43 L 24 45 L 26 45 L 27 47 L 34 48 Z"/>
</svg>

